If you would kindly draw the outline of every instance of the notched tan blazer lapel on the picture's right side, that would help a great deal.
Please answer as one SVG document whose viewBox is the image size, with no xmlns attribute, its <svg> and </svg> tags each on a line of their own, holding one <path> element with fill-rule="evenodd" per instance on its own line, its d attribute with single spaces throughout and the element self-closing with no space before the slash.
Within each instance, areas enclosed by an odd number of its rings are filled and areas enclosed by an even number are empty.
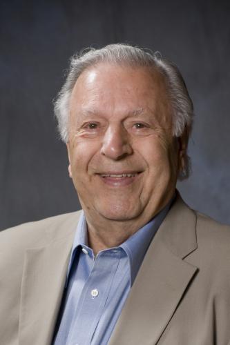
<svg viewBox="0 0 230 345">
<path fill-rule="evenodd" d="M 148 248 L 109 345 L 153 345 L 180 304 L 197 268 L 195 214 L 178 196 Z"/>
</svg>

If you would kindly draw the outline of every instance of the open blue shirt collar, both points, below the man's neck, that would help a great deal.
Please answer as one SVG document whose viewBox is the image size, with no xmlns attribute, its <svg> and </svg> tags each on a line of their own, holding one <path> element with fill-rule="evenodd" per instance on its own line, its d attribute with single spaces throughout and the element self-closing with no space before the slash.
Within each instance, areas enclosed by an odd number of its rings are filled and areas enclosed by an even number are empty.
<svg viewBox="0 0 230 345">
<path fill-rule="evenodd" d="M 117 247 L 117 248 L 122 248 L 125 251 L 126 255 L 128 256 L 128 260 L 129 260 L 130 268 L 131 268 L 131 286 L 133 285 L 137 272 L 142 264 L 142 261 L 144 259 L 144 255 L 146 254 L 148 246 L 151 243 L 151 240 L 153 239 L 158 228 L 162 224 L 164 217 L 166 217 L 166 214 L 169 212 L 169 208 L 171 208 L 171 205 L 173 204 L 174 199 L 175 199 L 175 195 L 171 199 L 171 201 L 169 201 L 169 203 L 160 211 L 160 213 L 155 215 L 155 217 L 153 217 L 151 221 L 149 221 L 146 225 L 140 228 L 140 230 L 138 230 L 131 237 L 128 237 L 128 239 L 126 239 L 125 242 L 123 242 L 119 247 Z M 80 248 L 88 247 L 87 224 L 86 224 L 86 217 L 84 215 L 83 210 L 79 217 L 79 222 L 77 224 L 77 230 L 75 233 L 73 248 L 70 255 L 70 262 L 68 265 L 67 279 L 70 273 L 70 268 L 75 259 L 77 248 L 79 247 Z"/>
</svg>

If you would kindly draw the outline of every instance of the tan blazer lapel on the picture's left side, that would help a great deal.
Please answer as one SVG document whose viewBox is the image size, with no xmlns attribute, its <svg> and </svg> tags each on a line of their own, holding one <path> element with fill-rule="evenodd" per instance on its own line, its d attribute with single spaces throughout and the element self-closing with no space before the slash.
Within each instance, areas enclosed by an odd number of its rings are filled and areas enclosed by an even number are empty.
<svg viewBox="0 0 230 345">
<path fill-rule="evenodd" d="M 64 229 L 68 229 L 67 235 L 63 235 L 62 231 L 62 237 L 56 234 L 54 239 L 52 233 L 49 233 L 52 239 L 50 244 L 26 250 L 21 286 L 19 345 L 50 345 L 66 282 L 77 218 L 74 217 L 71 226 L 61 224 Z"/>
</svg>

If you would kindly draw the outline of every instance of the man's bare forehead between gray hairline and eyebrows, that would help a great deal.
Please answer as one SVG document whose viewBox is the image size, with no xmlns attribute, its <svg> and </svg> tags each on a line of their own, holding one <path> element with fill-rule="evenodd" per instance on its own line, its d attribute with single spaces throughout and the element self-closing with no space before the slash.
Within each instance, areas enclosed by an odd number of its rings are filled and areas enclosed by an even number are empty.
<svg viewBox="0 0 230 345">
<path fill-rule="evenodd" d="M 99 63 L 79 76 L 70 99 L 70 112 L 83 108 L 111 111 L 125 108 L 153 110 L 169 108 L 166 82 L 153 68 L 132 68 L 111 63 Z M 167 108 L 167 109 L 166 109 Z M 168 111 L 167 111 L 168 112 Z"/>
</svg>

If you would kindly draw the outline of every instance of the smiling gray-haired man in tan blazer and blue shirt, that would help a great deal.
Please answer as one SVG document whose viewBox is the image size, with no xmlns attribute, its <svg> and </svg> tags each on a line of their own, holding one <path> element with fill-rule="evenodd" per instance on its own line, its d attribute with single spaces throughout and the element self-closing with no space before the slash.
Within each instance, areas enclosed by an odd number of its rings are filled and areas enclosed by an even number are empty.
<svg viewBox="0 0 230 345">
<path fill-rule="evenodd" d="M 175 190 L 193 119 L 178 68 L 88 50 L 55 113 L 82 211 L 1 233 L 1 345 L 230 344 L 230 229 Z"/>
</svg>

